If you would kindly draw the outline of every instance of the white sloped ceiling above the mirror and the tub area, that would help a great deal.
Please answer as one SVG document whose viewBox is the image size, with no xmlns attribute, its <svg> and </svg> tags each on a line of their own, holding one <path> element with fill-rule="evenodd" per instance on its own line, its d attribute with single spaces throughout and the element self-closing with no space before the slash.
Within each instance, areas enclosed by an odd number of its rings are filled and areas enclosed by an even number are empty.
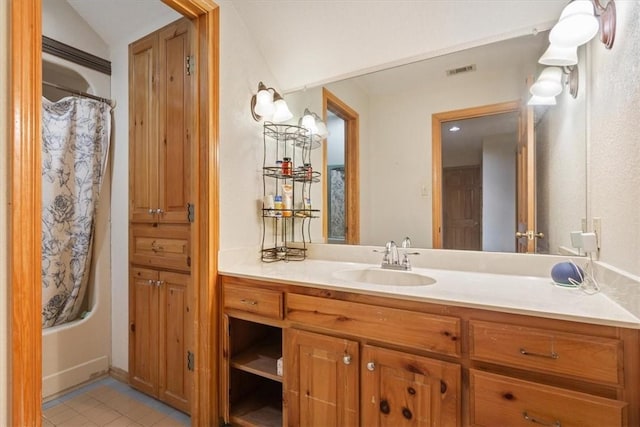
<svg viewBox="0 0 640 427">
<path fill-rule="evenodd" d="M 159 0 L 67 1 L 109 45 L 143 21 L 175 14 Z M 286 92 L 548 29 L 566 0 L 217 3 L 238 14 Z"/>
</svg>

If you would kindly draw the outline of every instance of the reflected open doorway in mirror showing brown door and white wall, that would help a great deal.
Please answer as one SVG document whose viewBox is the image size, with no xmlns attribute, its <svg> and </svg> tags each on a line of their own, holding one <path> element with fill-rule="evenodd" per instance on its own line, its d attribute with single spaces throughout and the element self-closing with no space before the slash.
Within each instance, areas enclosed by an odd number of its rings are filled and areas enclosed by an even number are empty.
<svg viewBox="0 0 640 427">
<path fill-rule="evenodd" d="M 441 209 L 441 246 L 435 246 L 434 228 L 434 247 L 516 251 L 519 117 L 518 103 L 440 116 L 433 142 L 441 153 L 437 165 L 434 147 L 434 183 L 442 183 L 440 194 L 434 186 L 434 226 Z"/>
</svg>

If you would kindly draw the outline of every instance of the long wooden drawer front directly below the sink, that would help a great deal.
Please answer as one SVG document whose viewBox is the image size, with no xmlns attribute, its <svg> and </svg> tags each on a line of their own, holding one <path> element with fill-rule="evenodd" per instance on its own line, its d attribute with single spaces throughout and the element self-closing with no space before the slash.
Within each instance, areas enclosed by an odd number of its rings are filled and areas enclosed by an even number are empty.
<svg viewBox="0 0 640 427">
<path fill-rule="evenodd" d="M 460 319 L 287 294 L 287 319 L 356 337 L 460 356 Z"/>
</svg>

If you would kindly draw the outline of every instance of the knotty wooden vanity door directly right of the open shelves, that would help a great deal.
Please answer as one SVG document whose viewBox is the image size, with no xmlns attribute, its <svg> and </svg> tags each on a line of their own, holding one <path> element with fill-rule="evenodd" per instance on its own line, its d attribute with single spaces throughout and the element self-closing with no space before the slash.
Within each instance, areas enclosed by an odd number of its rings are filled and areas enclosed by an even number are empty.
<svg viewBox="0 0 640 427">
<path fill-rule="evenodd" d="M 358 426 L 358 343 L 287 329 L 285 425 Z"/>
</svg>

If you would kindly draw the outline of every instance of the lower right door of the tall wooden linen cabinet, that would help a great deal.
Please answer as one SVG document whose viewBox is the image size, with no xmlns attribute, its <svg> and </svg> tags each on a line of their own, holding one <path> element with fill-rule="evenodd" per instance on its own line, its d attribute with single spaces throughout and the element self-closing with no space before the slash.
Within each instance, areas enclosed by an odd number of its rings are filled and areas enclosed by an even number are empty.
<svg viewBox="0 0 640 427">
<path fill-rule="evenodd" d="M 159 397 L 171 406 L 189 412 L 193 371 L 193 308 L 190 276 L 160 272 Z M 194 362 L 192 362 L 194 363 Z"/>
</svg>

